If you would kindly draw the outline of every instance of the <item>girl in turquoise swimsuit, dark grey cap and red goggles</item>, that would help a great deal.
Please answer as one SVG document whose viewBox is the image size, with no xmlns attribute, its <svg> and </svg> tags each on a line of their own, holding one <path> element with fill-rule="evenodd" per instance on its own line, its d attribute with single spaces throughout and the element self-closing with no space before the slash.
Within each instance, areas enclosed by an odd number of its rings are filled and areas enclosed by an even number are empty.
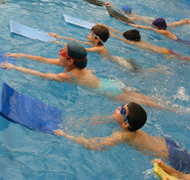
<svg viewBox="0 0 190 180">
<path fill-rule="evenodd" d="M 91 71 L 86 69 L 87 52 L 80 44 L 74 42 L 67 44 L 60 50 L 58 59 L 50 59 L 22 53 L 6 53 L 6 55 L 15 58 L 25 57 L 41 63 L 60 65 L 65 69 L 65 72 L 59 74 L 41 73 L 10 63 L 2 63 L 1 67 L 6 70 L 15 69 L 22 73 L 38 76 L 44 79 L 79 85 L 84 89 L 113 101 L 119 101 L 122 103 L 134 101 L 148 107 L 164 109 L 148 96 L 127 91 L 125 85 L 116 79 L 110 81 L 109 79 L 99 79 L 93 75 Z M 170 110 L 170 108 L 167 109 Z"/>
</svg>

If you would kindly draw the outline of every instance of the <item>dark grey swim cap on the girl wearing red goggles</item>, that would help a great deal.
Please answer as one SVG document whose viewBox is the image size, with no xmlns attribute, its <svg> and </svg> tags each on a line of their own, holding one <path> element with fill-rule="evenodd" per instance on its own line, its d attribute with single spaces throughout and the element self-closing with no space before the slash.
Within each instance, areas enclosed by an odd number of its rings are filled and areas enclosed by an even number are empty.
<svg viewBox="0 0 190 180">
<path fill-rule="evenodd" d="M 84 69 L 87 65 L 86 49 L 75 42 L 67 44 L 68 56 L 73 58 L 74 64 L 80 69 Z"/>
</svg>

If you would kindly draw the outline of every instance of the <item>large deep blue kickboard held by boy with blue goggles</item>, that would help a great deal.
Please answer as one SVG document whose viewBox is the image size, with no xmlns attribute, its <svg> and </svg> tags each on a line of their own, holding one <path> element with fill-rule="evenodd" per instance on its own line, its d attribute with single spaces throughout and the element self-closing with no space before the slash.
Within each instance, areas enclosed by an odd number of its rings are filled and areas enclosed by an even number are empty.
<svg viewBox="0 0 190 180">
<path fill-rule="evenodd" d="M 49 134 L 53 134 L 62 122 L 60 109 L 20 94 L 6 83 L 2 84 L 0 115 L 29 129 Z"/>
</svg>

